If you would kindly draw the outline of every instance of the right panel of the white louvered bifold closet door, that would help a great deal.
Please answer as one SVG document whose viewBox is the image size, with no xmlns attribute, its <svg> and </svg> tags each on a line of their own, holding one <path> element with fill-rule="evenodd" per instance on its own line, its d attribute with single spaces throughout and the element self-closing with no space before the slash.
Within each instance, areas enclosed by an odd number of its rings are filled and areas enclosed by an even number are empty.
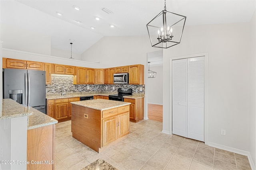
<svg viewBox="0 0 256 170">
<path fill-rule="evenodd" d="M 188 138 L 204 141 L 204 57 L 188 59 Z"/>
</svg>

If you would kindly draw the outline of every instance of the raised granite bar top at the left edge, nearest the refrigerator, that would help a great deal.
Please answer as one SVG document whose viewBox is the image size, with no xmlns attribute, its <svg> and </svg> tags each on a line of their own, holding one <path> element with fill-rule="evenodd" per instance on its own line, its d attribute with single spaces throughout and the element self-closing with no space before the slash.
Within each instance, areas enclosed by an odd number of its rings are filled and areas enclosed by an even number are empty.
<svg viewBox="0 0 256 170">
<path fill-rule="evenodd" d="M 11 119 L 32 115 L 33 111 L 24 107 L 12 99 L 3 99 L 0 110 L 0 119 Z"/>
</svg>

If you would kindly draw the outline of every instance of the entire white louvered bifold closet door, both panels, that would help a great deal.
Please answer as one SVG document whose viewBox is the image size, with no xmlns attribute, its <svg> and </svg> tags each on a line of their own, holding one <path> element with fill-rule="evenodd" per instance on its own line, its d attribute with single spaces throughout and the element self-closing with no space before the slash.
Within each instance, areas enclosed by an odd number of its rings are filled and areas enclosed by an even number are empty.
<svg viewBox="0 0 256 170">
<path fill-rule="evenodd" d="M 172 133 L 204 141 L 204 57 L 172 61 Z"/>
</svg>

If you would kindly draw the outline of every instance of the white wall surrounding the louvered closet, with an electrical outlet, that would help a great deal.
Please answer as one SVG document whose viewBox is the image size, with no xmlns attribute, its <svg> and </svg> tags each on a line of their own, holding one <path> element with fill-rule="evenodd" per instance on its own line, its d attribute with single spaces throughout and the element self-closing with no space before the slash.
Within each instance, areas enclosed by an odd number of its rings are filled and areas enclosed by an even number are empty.
<svg viewBox="0 0 256 170">
<path fill-rule="evenodd" d="M 187 26 L 164 50 L 163 130 L 171 133 L 170 58 L 199 53 L 208 53 L 208 144 L 248 151 L 250 23 Z"/>
</svg>

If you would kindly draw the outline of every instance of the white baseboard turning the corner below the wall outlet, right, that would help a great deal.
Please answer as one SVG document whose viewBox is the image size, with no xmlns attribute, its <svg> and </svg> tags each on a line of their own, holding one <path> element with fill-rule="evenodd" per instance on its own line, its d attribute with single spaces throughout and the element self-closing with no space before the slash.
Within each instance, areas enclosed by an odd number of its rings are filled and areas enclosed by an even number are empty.
<svg viewBox="0 0 256 170">
<path fill-rule="evenodd" d="M 232 148 L 232 147 L 227 147 L 227 146 L 220 145 L 220 144 L 217 144 L 217 143 L 212 143 L 212 142 L 208 142 L 208 145 L 210 147 L 214 147 L 214 148 L 218 148 L 218 149 L 222 149 L 222 150 L 227 150 L 227 151 L 230 151 L 230 152 L 234 152 L 234 153 L 237 153 L 237 154 L 242 154 L 244 156 L 247 156 L 252 170 L 256 170 L 255 165 L 252 161 L 252 156 L 251 156 L 250 152 L 240 150 L 240 149 L 236 149 L 236 148 Z"/>
</svg>

